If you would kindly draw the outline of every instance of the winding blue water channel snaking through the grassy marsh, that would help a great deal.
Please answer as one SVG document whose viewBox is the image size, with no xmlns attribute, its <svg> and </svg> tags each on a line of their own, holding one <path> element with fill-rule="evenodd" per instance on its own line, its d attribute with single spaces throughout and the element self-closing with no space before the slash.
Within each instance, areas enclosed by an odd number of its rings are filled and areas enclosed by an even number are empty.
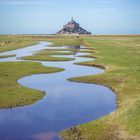
<svg viewBox="0 0 140 140">
<path fill-rule="evenodd" d="M 45 48 L 49 49 L 48 44 L 41 42 L 0 53 L 0 55 L 16 54 L 16 57 L 2 58 L 0 62 L 21 61 L 17 58 L 33 55 L 34 52 Z M 19 84 L 43 90 L 47 95 L 43 100 L 30 106 L 0 110 L 0 140 L 60 140 L 58 132 L 98 119 L 116 109 L 116 95 L 109 88 L 67 81 L 70 77 L 104 72 L 95 67 L 75 65 L 75 62 L 92 60 L 78 57 L 82 54 L 77 53 L 75 60 L 72 61 L 39 61 L 44 66 L 61 67 L 65 71 L 34 74 L 18 80 Z"/>
</svg>

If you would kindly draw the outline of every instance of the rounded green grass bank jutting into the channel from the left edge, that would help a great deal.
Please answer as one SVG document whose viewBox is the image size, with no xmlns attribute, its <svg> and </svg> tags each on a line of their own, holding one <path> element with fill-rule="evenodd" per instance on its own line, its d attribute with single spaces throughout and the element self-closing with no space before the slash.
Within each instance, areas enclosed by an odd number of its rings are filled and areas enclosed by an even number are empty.
<svg viewBox="0 0 140 140">
<path fill-rule="evenodd" d="M 0 63 L 0 108 L 13 108 L 33 104 L 44 97 L 44 92 L 19 85 L 17 80 L 21 77 L 62 70 L 64 69 L 44 67 L 40 63 L 35 62 Z"/>
</svg>

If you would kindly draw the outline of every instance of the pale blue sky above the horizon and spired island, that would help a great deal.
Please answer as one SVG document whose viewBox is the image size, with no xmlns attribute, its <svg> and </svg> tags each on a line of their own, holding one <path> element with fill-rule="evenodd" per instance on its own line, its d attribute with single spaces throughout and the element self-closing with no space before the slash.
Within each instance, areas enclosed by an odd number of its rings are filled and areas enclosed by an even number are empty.
<svg viewBox="0 0 140 140">
<path fill-rule="evenodd" d="M 71 16 L 93 34 L 140 34 L 140 0 L 0 0 L 0 34 L 51 34 Z"/>
</svg>

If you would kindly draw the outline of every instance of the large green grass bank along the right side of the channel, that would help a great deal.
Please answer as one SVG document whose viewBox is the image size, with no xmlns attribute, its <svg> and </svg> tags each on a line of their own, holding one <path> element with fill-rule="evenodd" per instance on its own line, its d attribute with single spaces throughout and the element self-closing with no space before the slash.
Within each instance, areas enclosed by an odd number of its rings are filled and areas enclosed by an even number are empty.
<svg viewBox="0 0 140 140">
<path fill-rule="evenodd" d="M 83 38 L 93 47 L 95 61 L 80 64 L 106 69 L 106 73 L 76 77 L 76 82 L 97 83 L 117 94 L 118 109 L 97 121 L 61 132 L 64 139 L 140 139 L 140 36 L 97 36 Z"/>
</svg>

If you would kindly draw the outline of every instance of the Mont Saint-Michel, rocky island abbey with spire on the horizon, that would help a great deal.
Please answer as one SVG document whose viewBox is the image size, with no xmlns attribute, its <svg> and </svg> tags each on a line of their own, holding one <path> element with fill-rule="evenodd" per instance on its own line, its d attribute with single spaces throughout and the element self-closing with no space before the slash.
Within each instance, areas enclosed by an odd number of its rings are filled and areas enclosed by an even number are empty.
<svg viewBox="0 0 140 140">
<path fill-rule="evenodd" d="M 91 34 L 87 30 L 80 27 L 79 23 L 71 18 L 71 21 L 63 26 L 63 28 L 57 32 L 58 34 Z"/>
</svg>

